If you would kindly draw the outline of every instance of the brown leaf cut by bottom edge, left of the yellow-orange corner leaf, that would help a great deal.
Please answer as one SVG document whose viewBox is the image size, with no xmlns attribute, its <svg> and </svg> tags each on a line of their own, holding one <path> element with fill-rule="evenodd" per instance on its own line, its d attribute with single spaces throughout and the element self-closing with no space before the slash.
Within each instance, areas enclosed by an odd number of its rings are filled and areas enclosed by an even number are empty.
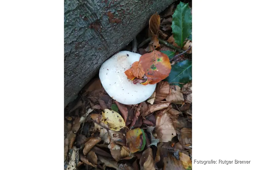
<svg viewBox="0 0 256 170">
<path fill-rule="evenodd" d="M 185 170 L 181 160 L 177 160 L 173 156 L 163 158 L 163 170 Z"/>
</svg>

